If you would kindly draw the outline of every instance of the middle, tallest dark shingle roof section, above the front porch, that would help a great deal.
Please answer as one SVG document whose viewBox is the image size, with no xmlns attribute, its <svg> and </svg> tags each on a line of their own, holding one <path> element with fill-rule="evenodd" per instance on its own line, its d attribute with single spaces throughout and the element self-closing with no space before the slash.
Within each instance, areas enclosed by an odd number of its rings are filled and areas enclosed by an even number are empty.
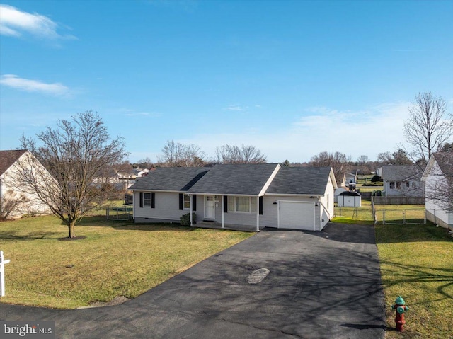
<svg viewBox="0 0 453 339">
<path fill-rule="evenodd" d="M 191 193 L 219 195 L 258 195 L 277 163 L 216 165 L 190 188 Z"/>
</svg>

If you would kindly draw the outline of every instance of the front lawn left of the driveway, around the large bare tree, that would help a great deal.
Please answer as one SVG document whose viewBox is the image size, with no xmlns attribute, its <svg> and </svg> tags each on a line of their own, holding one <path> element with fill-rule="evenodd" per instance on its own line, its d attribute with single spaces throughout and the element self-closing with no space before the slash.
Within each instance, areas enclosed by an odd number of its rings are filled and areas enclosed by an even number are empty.
<svg viewBox="0 0 453 339">
<path fill-rule="evenodd" d="M 85 218 L 75 233 L 86 238 L 59 240 L 68 231 L 55 217 L 0 222 L 0 249 L 11 260 L 1 302 L 73 309 L 137 297 L 253 235 L 104 216 Z"/>
</svg>

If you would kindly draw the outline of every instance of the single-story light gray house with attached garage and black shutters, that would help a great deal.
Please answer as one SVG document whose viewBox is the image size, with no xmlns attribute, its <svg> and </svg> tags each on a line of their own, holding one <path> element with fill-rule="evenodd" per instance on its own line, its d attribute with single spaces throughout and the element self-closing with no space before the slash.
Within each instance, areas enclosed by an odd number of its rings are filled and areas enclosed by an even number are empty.
<svg viewBox="0 0 453 339">
<path fill-rule="evenodd" d="M 130 188 L 135 222 L 198 221 L 320 231 L 333 217 L 331 168 L 275 163 L 156 168 Z"/>
</svg>

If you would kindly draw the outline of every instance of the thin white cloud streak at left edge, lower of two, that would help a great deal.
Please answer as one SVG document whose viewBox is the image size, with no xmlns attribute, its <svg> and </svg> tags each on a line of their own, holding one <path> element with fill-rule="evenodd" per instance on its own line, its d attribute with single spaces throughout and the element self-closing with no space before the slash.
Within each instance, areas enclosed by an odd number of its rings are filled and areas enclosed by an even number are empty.
<svg viewBox="0 0 453 339">
<path fill-rule="evenodd" d="M 54 96 L 66 96 L 69 94 L 69 88 L 63 84 L 45 84 L 39 80 L 23 79 L 15 74 L 4 74 L 0 76 L 0 84 L 17 88 L 21 91 L 40 92 Z"/>
</svg>

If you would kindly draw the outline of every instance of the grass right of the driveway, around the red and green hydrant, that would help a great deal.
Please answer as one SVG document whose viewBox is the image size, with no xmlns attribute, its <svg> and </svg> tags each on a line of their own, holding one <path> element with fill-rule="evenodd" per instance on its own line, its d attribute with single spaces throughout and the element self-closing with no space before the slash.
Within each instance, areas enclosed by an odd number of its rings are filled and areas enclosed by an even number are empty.
<svg viewBox="0 0 453 339">
<path fill-rule="evenodd" d="M 386 301 L 387 326 L 395 328 L 390 306 L 401 295 L 405 333 L 386 338 L 453 338 L 453 238 L 447 229 L 426 225 L 377 225 L 376 239 Z"/>
</svg>

